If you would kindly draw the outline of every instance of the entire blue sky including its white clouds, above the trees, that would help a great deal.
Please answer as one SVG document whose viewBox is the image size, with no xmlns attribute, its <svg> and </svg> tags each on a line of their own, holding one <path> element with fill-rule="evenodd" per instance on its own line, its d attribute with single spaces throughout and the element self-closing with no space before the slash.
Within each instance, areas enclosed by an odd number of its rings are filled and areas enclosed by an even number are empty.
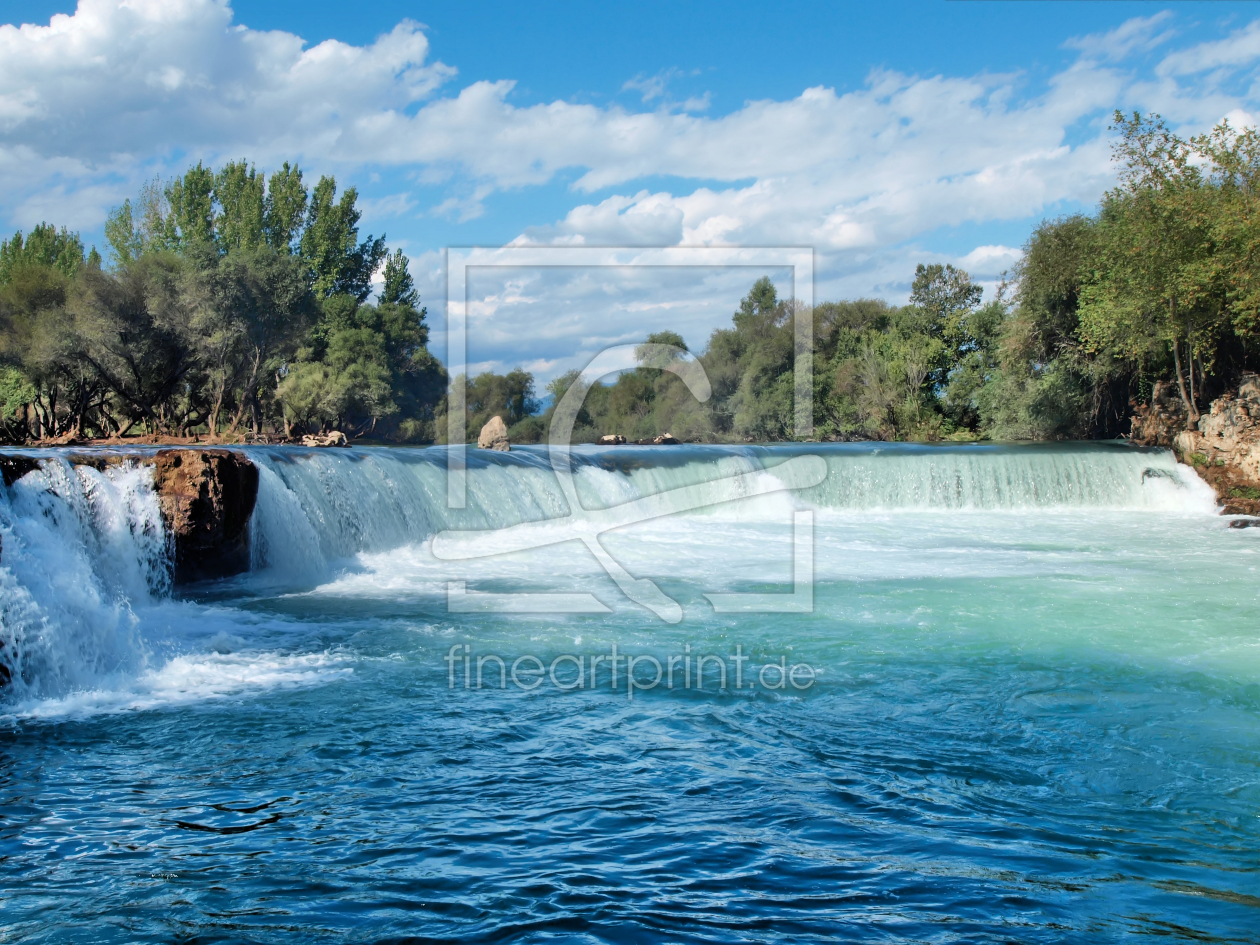
<svg viewBox="0 0 1260 945">
<path fill-rule="evenodd" d="M 438 341 L 445 246 L 814 246 L 819 299 L 896 301 L 920 261 L 993 285 L 1038 219 L 1091 208 L 1113 108 L 1186 132 L 1250 122 L 1257 19 L 1230 3 L 0 3 L 0 23 L 32 24 L 0 28 L 0 223 L 100 241 L 146 179 L 290 158 L 359 188 Z M 670 281 L 663 310 L 690 304 L 677 318 L 699 346 L 745 275 L 696 280 L 690 302 Z M 470 355 L 546 378 L 668 326 L 629 287 L 585 284 L 602 287 L 486 282 L 533 307 L 491 306 Z M 567 333 L 537 330 L 553 297 Z"/>
</svg>

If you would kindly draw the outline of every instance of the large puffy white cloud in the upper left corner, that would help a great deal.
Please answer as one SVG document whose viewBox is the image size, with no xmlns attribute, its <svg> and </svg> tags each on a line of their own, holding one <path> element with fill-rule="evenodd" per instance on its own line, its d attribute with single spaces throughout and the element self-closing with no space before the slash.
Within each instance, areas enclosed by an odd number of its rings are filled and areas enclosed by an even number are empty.
<svg viewBox="0 0 1260 945">
<path fill-rule="evenodd" d="M 0 26 L 0 147 L 89 168 L 171 151 L 335 152 L 454 74 L 427 54 L 407 20 L 370 45 L 305 48 L 233 25 L 224 0 L 81 0 L 47 26 Z"/>
</svg>

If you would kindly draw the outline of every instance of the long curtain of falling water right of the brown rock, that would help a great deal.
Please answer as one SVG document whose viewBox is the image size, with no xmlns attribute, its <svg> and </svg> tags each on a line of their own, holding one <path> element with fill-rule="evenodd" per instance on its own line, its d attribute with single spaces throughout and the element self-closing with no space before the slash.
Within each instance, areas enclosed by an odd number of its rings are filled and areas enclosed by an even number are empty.
<svg viewBox="0 0 1260 945">
<path fill-rule="evenodd" d="M 827 479 L 765 505 L 827 512 L 1110 510 L 1210 514 L 1211 489 L 1172 454 L 1097 447 L 670 447 L 575 450 L 585 508 L 609 508 L 730 476 L 774 476 L 799 455 L 827 459 Z M 422 542 L 444 529 L 507 528 L 568 514 L 542 447 L 470 454 L 467 500 L 450 509 L 445 454 L 435 450 L 251 451 L 262 467 L 255 566 L 319 578 L 358 552 Z M 790 499 L 786 496 L 791 496 Z M 712 500 L 726 498 L 713 490 Z M 712 512 L 730 512 L 726 503 Z"/>
</svg>

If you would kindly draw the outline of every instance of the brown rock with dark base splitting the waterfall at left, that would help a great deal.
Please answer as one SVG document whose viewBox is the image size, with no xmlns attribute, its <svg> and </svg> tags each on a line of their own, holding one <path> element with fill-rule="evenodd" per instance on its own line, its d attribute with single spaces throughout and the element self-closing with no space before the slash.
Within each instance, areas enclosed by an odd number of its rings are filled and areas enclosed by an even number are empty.
<svg viewBox="0 0 1260 945">
<path fill-rule="evenodd" d="M 175 582 L 249 570 L 258 467 L 231 450 L 161 450 L 154 489 L 175 552 Z"/>
</svg>

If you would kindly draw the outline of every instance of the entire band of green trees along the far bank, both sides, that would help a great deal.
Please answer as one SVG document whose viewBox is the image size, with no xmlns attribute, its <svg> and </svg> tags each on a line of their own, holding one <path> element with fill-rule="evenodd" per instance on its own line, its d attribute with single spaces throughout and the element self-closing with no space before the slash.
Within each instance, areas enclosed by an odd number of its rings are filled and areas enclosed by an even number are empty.
<svg viewBox="0 0 1260 945">
<path fill-rule="evenodd" d="M 708 402 L 645 360 L 588 392 L 576 438 L 790 440 L 799 319 L 820 438 L 1115 437 L 1158 384 L 1193 422 L 1260 368 L 1260 136 L 1222 123 L 1183 140 L 1119 112 L 1115 130 L 1116 186 L 1092 214 L 1043 220 L 993 297 L 948 265 L 919 266 L 906 305 L 806 310 L 760 280 L 696 355 Z M 449 379 L 425 309 L 406 257 L 359 239 L 355 202 L 287 164 L 266 180 L 198 165 L 111 213 L 107 265 L 66 229 L 15 234 L 0 244 L 0 433 L 441 441 Z M 687 350 L 673 331 L 646 340 Z M 575 381 L 539 392 L 515 369 L 450 389 L 470 440 L 500 415 L 514 442 L 538 442 Z"/>
</svg>

